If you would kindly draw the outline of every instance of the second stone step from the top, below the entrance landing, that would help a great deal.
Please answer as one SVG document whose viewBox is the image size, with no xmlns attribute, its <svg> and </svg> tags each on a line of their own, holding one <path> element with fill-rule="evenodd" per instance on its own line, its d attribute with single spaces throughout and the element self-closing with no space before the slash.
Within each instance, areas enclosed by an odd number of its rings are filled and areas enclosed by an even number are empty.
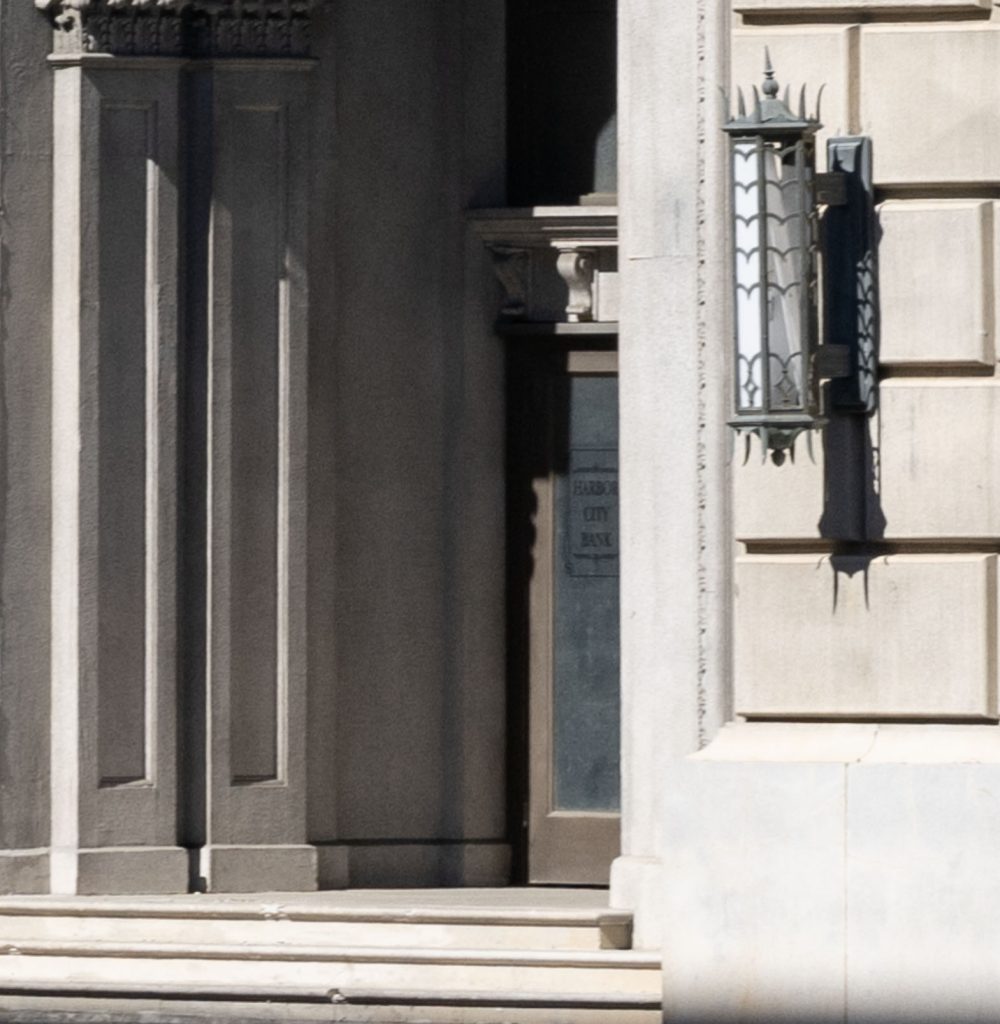
<svg viewBox="0 0 1000 1024">
<path fill-rule="evenodd" d="M 428 949 L 157 942 L 0 945 L 0 986 L 291 986 L 422 991 L 607 992 L 658 997 L 660 962 L 631 950 Z"/>
</svg>

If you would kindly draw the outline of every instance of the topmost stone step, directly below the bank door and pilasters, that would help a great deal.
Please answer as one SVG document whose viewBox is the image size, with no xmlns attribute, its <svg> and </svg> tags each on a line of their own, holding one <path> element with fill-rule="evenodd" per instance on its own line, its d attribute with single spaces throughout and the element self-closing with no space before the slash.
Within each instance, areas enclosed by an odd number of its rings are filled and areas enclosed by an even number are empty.
<svg viewBox="0 0 1000 1024">
<path fill-rule="evenodd" d="M 232 945 L 380 946 L 427 949 L 627 949 L 632 918 L 572 907 L 324 907 L 296 903 L 53 897 L 0 900 L 9 943 L 185 942 Z"/>
</svg>

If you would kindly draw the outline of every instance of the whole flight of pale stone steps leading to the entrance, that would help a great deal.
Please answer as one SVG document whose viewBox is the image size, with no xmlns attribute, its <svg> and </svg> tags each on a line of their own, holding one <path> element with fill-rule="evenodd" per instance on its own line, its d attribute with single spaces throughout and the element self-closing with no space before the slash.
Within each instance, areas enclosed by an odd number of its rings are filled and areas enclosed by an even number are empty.
<svg viewBox="0 0 1000 1024">
<path fill-rule="evenodd" d="M 654 1019 L 660 998 L 659 956 L 633 950 L 631 933 L 631 914 L 591 889 L 9 897 L 0 1007 L 124 1014 L 154 1000 L 172 1008 L 164 1022 L 181 1005 L 246 1020 L 321 1005 L 321 1019 L 358 1022 L 420 1007 L 415 1020 L 466 1024 L 492 1020 L 489 1007 L 515 1024 L 548 1007 L 626 1024 Z"/>
</svg>

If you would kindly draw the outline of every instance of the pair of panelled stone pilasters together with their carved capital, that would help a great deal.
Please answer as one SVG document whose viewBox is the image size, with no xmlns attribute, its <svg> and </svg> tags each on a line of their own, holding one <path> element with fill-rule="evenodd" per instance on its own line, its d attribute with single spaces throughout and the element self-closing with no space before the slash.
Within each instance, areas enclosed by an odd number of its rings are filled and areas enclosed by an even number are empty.
<svg viewBox="0 0 1000 1024">
<path fill-rule="evenodd" d="M 310 4 L 38 6 L 55 79 L 51 887 L 185 890 L 200 847 L 213 889 L 314 888 Z M 201 400 L 183 431 L 180 351 Z"/>
</svg>

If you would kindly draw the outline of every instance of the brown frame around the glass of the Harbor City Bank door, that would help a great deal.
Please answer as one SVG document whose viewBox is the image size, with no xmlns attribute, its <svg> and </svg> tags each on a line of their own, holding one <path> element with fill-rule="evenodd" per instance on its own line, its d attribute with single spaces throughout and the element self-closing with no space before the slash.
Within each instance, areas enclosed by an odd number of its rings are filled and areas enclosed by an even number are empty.
<svg viewBox="0 0 1000 1024">
<path fill-rule="evenodd" d="M 555 492 L 559 469 L 552 389 L 557 380 L 568 376 L 616 375 L 615 341 L 613 335 L 558 341 L 532 339 L 511 351 L 508 378 L 511 818 L 515 881 L 528 884 L 607 885 L 611 863 L 620 850 L 620 813 L 557 810 L 553 806 L 551 772 Z"/>
</svg>

